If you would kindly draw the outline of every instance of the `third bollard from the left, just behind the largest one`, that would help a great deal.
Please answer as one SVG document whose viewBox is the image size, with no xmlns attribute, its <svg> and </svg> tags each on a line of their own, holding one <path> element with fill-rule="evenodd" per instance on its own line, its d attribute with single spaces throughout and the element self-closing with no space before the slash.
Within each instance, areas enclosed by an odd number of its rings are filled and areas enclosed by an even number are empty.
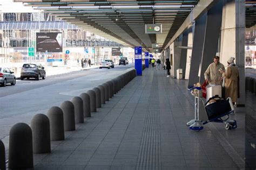
<svg viewBox="0 0 256 170">
<path fill-rule="evenodd" d="M 30 127 L 32 130 L 33 153 L 51 152 L 50 121 L 44 114 L 33 116 Z"/>
</svg>

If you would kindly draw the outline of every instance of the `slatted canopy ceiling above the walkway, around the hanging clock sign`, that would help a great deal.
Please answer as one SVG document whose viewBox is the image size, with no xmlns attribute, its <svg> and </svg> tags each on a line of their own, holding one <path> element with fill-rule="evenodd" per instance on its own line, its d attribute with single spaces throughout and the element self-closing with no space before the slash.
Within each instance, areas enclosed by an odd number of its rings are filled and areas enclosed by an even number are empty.
<svg viewBox="0 0 256 170">
<path fill-rule="evenodd" d="M 142 46 L 153 51 L 152 44 L 165 47 L 190 14 L 195 1 L 136 0 L 14 0 L 25 6 L 75 24 L 124 46 Z M 145 24 L 162 24 L 162 33 L 146 34 Z"/>
</svg>

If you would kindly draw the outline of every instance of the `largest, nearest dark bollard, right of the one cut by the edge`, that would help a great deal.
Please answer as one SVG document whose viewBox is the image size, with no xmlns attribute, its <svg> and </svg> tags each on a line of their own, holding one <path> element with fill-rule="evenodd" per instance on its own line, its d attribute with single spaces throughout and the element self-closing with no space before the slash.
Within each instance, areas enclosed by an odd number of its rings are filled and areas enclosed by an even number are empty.
<svg viewBox="0 0 256 170">
<path fill-rule="evenodd" d="M 33 168 L 32 130 L 28 124 L 17 123 L 12 126 L 9 136 L 10 169 Z"/>
</svg>

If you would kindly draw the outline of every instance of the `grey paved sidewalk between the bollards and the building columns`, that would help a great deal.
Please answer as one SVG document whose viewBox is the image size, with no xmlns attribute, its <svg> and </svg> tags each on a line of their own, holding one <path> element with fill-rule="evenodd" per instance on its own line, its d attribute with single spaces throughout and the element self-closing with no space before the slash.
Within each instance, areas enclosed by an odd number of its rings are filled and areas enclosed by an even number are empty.
<svg viewBox="0 0 256 170">
<path fill-rule="evenodd" d="M 50 154 L 35 154 L 35 169 L 240 169 L 244 167 L 245 109 L 231 118 L 238 129 L 209 123 L 200 132 L 186 80 L 145 69 L 103 104 Z"/>
</svg>

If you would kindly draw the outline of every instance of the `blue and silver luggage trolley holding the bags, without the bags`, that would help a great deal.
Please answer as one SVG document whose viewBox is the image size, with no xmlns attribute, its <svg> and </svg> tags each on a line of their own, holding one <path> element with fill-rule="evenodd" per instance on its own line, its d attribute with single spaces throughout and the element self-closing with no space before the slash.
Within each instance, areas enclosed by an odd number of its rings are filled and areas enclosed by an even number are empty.
<svg viewBox="0 0 256 170">
<path fill-rule="evenodd" d="M 218 112 L 216 112 L 213 115 L 212 111 L 211 113 L 209 113 L 210 111 L 208 111 L 207 114 L 207 104 L 211 99 L 214 98 L 220 98 L 219 96 L 214 96 L 212 97 L 210 100 L 208 100 L 205 104 L 204 101 L 200 98 L 201 96 L 201 87 L 192 87 L 189 88 L 189 90 L 194 90 L 196 91 L 196 93 L 191 93 L 195 98 L 194 98 L 194 119 L 192 119 L 190 122 L 188 122 L 186 125 L 190 127 L 191 130 L 195 130 L 195 131 L 200 131 L 202 129 L 204 129 L 204 124 L 207 124 L 209 122 L 215 122 L 215 123 L 224 123 L 224 127 L 226 130 L 230 130 L 230 129 L 235 129 L 237 128 L 237 121 L 235 120 L 228 120 L 230 118 L 230 114 L 234 113 L 234 107 L 233 107 L 233 103 L 230 97 L 227 98 L 226 100 L 226 105 L 227 105 L 227 109 L 226 111 L 222 114 L 219 114 Z M 228 103 L 228 104 L 227 104 Z M 215 105 L 217 105 L 218 103 L 216 102 Z M 226 117 L 226 118 L 224 118 Z"/>
</svg>

